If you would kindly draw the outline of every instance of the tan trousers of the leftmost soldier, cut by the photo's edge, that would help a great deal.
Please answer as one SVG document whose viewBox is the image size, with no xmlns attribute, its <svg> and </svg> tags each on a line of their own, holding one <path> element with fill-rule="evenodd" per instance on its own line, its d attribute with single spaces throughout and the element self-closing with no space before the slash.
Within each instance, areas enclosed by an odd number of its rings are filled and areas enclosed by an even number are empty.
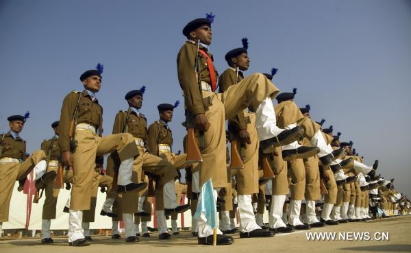
<svg viewBox="0 0 411 253">
<path fill-rule="evenodd" d="M 0 163 L 0 222 L 8 221 L 14 183 L 23 180 L 32 169 L 45 159 L 45 152 L 36 150 L 24 162 Z"/>
</svg>

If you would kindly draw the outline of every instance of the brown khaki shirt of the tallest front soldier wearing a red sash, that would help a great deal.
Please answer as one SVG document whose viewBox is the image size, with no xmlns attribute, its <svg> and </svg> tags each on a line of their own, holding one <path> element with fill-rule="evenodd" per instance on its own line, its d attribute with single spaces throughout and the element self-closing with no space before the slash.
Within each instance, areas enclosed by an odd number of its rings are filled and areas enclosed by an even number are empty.
<svg viewBox="0 0 411 253">
<path fill-rule="evenodd" d="M 200 49 L 206 51 L 208 56 L 212 58 L 212 55 L 208 52 L 206 47 L 199 46 Z M 198 115 L 204 113 L 203 98 L 200 95 L 199 83 L 197 82 L 195 74 L 195 56 L 197 53 L 197 46 L 195 42 L 187 40 L 182 46 L 177 55 L 177 72 L 179 84 L 184 92 L 184 103 L 186 108 L 192 113 L 192 115 Z M 199 73 L 201 81 L 211 83 L 210 72 L 208 71 L 207 60 L 204 57 L 199 57 Z M 214 67 L 214 71 L 217 71 Z M 210 84 L 211 85 L 211 84 Z"/>
</svg>

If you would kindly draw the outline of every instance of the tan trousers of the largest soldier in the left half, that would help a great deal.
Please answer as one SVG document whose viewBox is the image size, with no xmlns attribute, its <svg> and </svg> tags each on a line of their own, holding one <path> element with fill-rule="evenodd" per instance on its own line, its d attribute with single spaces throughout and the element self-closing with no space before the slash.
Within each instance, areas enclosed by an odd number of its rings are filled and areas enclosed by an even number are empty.
<svg viewBox="0 0 411 253">
<path fill-rule="evenodd" d="M 73 154 L 73 186 L 70 208 L 89 210 L 92 197 L 92 182 L 95 178 L 95 158 L 117 152 L 121 161 L 136 156 L 137 145 L 132 134 L 111 134 L 100 137 L 88 130 L 75 131 L 78 145 Z"/>
</svg>

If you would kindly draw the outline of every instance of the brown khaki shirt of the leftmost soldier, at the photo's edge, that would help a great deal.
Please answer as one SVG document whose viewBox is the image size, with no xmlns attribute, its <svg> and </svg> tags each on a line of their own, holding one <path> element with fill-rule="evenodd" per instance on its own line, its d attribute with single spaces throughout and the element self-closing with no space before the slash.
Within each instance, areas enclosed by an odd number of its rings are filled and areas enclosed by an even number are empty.
<svg viewBox="0 0 411 253">
<path fill-rule="evenodd" d="M 0 134 L 0 141 L 3 138 L 3 134 Z M 11 157 L 20 159 L 21 161 L 25 160 L 25 141 L 17 137 L 13 138 L 12 134 L 8 132 L 4 134 L 3 141 L 1 141 L 1 147 L 3 150 L 1 152 L 0 158 Z"/>
</svg>

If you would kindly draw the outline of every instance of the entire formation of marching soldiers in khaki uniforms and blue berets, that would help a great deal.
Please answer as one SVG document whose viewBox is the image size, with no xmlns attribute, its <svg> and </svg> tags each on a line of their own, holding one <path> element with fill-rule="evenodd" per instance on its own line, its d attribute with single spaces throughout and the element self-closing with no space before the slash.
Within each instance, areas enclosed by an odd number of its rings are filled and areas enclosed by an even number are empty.
<svg viewBox="0 0 411 253">
<path fill-rule="evenodd" d="M 364 165 L 350 145 L 339 142 L 338 135 L 321 130 L 321 124 L 310 119 L 308 108 L 300 110 L 292 100 L 295 92 L 279 94 L 271 82 L 275 71 L 245 77 L 250 63 L 247 40 L 225 55 L 228 68 L 219 75 L 208 50 L 212 19 L 208 15 L 184 27 L 187 40 L 177 56 L 188 132 L 184 154 L 171 151 L 168 123 L 177 104 L 160 104 L 160 119 L 147 128 L 140 112 L 145 88 L 125 94 L 126 110 L 117 113 L 112 134 L 102 136 L 103 110 L 96 97 L 103 73 L 99 64 L 79 77 L 84 91 L 73 91 L 64 98 L 60 121 L 52 125 L 55 136 L 27 159 L 25 141 L 19 136 L 26 117 L 8 118 L 10 131 L 1 135 L 1 224 L 8 221 L 14 182 L 22 186 L 33 169 L 38 197 L 45 191 L 42 243 L 53 243 L 49 228 L 62 182 L 71 183 L 65 209 L 69 245 L 73 246 L 92 241 L 89 223 L 94 221 L 99 186 L 106 187 L 100 214 L 112 217 L 112 238 L 121 237 L 117 230 L 123 220 L 129 243 L 139 241 L 138 223 L 142 236 L 149 235 L 151 196 L 155 197 L 159 239 L 171 238 L 166 217 L 171 216 L 176 227 L 176 215 L 191 207 L 192 215 L 197 211 L 192 234 L 204 245 L 234 243 L 229 235 L 236 232 L 233 213 L 240 221 L 240 238 L 362 221 L 369 219 L 370 211 L 377 215 L 379 209 L 384 216 L 397 215 L 399 209 L 408 213 L 406 197 L 395 191 L 392 181 L 375 172 L 378 162 Z M 230 159 L 227 141 L 231 143 Z M 104 154 L 110 154 L 106 175 L 102 173 Z M 176 182 L 179 169 L 187 171 L 186 186 Z M 216 239 L 201 194 L 210 179 L 221 219 Z M 190 204 L 180 205 L 179 193 L 184 192 Z M 305 210 L 301 211 L 303 202 Z M 266 206 L 268 226 L 262 219 Z"/>
</svg>

